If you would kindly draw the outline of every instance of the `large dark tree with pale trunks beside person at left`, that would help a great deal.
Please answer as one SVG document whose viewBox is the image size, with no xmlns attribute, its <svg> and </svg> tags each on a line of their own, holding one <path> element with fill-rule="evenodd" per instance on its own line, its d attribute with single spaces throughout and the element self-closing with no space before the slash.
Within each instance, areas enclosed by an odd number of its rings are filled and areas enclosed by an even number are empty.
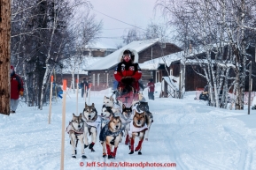
<svg viewBox="0 0 256 170">
<path fill-rule="evenodd" d="M 66 47 L 75 40 L 71 21 L 78 6 L 89 10 L 89 1 L 12 1 L 12 64 L 23 70 L 29 106 L 42 109 L 50 74 L 70 53 Z"/>
</svg>

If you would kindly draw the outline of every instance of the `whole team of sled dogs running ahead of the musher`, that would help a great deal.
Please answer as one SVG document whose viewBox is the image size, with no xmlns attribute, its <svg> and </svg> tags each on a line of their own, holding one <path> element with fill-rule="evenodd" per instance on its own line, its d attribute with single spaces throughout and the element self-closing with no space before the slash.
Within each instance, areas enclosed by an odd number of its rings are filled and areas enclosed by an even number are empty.
<svg viewBox="0 0 256 170">
<path fill-rule="evenodd" d="M 88 147 L 91 152 L 95 152 L 93 147 L 98 133 L 104 158 L 115 159 L 122 137 L 125 137 L 125 144 L 129 146 L 128 154 L 138 152 L 141 155 L 142 144 L 144 138 L 148 140 L 153 116 L 149 111 L 148 103 L 142 100 L 142 94 L 139 99 L 134 101 L 131 107 L 126 107 L 119 100 L 105 96 L 100 115 L 97 114 L 94 103 L 90 106 L 85 103 L 82 113 L 78 116 L 73 114 L 72 121 L 66 127 L 72 146 L 72 157 L 76 158 L 76 147 L 79 141 L 82 159 L 87 158 L 84 153 L 85 148 Z M 136 137 L 139 138 L 139 142 L 135 148 Z"/>
</svg>

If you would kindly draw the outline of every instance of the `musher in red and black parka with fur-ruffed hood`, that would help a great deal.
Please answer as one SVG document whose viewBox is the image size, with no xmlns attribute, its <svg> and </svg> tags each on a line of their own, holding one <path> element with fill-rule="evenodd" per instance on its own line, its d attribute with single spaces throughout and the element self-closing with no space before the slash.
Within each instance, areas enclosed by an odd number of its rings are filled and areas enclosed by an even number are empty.
<svg viewBox="0 0 256 170">
<path fill-rule="evenodd" d="M 136 54 L 137 55 L 137 54 Z M 142 71 L 138 63 L 134 63 L 135 51 L 126 49 L 121 54 L 121 61 L 114 71 L 114 78 L 118 81 L 118 90 L 121 92 L 139 92 L 139 79 L 142 78 Z"/>
</svg>

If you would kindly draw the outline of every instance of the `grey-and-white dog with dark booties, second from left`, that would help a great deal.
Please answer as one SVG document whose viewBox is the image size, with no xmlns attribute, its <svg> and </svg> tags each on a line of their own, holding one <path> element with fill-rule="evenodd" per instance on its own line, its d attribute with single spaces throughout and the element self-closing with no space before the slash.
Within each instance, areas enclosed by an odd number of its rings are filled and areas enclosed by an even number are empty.
<svg viewBox="0 0 256 170">
<path fill-rule="evenodd" d="M 96 143 L 97 138 L 97 129 L 100 126 L 100 117 L 97 116 L 97 110 L 94 106 L 94 103 L 91 106 L 85 103 L 85 107 L 83 109 L 83 119 L 84 122 L 84 147 L 89 149 L 91 152 L 95 152 L 93 149 L 94 144 Z M 88 135 L 91 135 L 91 143 L 88 142 Z"/>
</svg>

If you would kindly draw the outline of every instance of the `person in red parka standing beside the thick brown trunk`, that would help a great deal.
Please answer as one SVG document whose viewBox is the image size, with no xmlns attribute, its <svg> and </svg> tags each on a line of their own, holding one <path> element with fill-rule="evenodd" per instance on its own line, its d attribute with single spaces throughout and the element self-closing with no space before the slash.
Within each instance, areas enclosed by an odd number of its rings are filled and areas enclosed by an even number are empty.
<svg viewBox="0 0 256 170">
<path fill-rule="evenodd" d="M 11 114 L 16 112 L 16 109 L 19 105 L 19 95 L 23 96 L 23 80 L 19 77 L 19 75 L 15 74 L 14 67 L 11 65 Z"/>
</svg>

